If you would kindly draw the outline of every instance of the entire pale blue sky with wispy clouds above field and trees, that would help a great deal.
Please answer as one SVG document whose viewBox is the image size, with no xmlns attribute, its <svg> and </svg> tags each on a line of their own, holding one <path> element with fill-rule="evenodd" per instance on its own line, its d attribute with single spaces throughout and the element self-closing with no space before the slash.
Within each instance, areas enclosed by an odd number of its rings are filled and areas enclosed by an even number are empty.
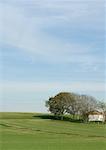
<svg viewBox="0 0 106 150">
<path fill-rule="evenodd" d="M 105 0 L 0 0 L 0 111 L 47 112 L 59 92 L 106 100 Z"/>
</svg>

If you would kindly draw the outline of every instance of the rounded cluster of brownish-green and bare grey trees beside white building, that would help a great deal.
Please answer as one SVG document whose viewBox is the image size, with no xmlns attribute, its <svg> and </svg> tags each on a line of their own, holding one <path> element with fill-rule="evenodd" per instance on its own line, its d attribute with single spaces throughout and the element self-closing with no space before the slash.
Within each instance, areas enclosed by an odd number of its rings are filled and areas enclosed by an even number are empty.
<svg viewBox="0 0 106 150">
<path fill-rule="evenodd" d="M 83 120 L 87 119 L 87 114 L 96 109 L 102 109 L 106 112 L 106 104 L 97 101 L 92 96 L 79 95 L 75 93 L 61 92 L 46 101 L 48 110 L 55 116 L 70 114 L 73 118 L 77 115 Z"/>
</svg>

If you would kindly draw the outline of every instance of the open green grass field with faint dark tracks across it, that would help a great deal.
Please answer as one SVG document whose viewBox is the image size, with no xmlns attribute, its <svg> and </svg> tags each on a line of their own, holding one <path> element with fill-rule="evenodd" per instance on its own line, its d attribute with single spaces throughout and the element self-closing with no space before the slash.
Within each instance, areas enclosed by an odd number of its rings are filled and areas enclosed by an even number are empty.
<svg viewBox="0 0 106 150">
<path fill-rule="evenodd" d="M 35 116 L 35 117 L 34 117 Z M 106 150 L 106 125 L 0 113 L 0 150 Z"/>
</svg>

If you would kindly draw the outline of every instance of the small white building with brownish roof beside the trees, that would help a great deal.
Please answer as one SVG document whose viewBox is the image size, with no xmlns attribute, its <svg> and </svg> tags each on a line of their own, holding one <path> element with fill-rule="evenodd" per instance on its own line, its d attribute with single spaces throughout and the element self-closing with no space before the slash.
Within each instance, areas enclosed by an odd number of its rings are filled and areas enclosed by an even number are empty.
<svg viewBox="0 0 106 150">
<path fill-rule="evenodd" d="M 88 121 L 105 121 L 105 115 L 100 111 L 91 111 L 88 113 Z"/>
</svg>

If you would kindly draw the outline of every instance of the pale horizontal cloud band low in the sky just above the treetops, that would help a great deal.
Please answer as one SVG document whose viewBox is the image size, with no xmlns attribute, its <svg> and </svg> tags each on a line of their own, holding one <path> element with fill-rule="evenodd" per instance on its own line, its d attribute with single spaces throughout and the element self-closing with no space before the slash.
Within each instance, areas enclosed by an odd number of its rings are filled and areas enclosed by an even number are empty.
<svg viewBox="0 0 106 150">
<path fill-rule="evenodd" d="M 0 89 L 4 92 L 48 92 L 82 91 L 82 92 L 105 92 L 106 84 L 103 82 L 3 82 Z"/>
</svg>

